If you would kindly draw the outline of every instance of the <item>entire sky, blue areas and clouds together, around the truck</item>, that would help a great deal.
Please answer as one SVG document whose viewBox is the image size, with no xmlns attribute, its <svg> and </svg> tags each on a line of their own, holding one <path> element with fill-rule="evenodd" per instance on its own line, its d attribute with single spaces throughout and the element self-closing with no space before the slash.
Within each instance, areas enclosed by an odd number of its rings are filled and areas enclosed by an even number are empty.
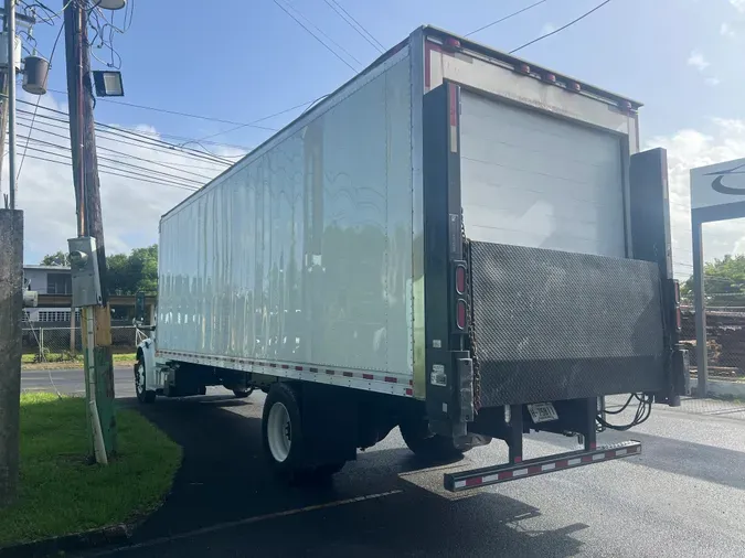
<svg viewBox="0 0 745 558">
<path fill-rule="evenodd" d="M 343 53 L 342 56 L 355 68 L 366 66 L 379 55 L 329 8 L 327 0 L 278 1 L 297 10 L 347 50 L 358 62 Z M 338 0 L 386 47 L 421 24 L 466 34 L 534 1 Z M 546 0 L 473 39 L 510 50 L 570 22 L 599 1 Z M 206 2 L 183 0 L 129 2 L 134 2 L 130 25 L 114 37 L 126 93 L 120 100 L 125 103 L 251 122 L 316 99 L 354 75 L 273 0 L 222 0 L 214 8 L 207 8 Z M 123 12 L 114 13 L 114 22 L 123 24 Z M 54 26 L 39 23 L 34 28 L 40 54 L 50 56 L 60 25 L 57 19 Z M 94 49 L 94 53 L 104 62 L 110 60 L 107 49 Z M 668 149 L 673 260 L 681 278 L 691 272 L 689 169 L 745 157 L 744 54 L 745 0 L 613 0 L 576 25 L 520 52 L 536 64 L 643 104 L 639 116 L 642 147 Z M 93 63 L 94 68 L 105 68 L 100 62 Z M 64 40 L 52 62 L 49 87 L 41 106 L 66 111 L 66 97 L 56 93 L 65 89 Z M 36 101 L 20 88 L 19 92 L 21 100 Z M 20 104 L 19 108 L 33 107 Z M 204 146 L 223 158 L 237 160 L 268 138 L 272 129 L 283 127 L 300 111 L 298 108 L 263 120 L 264 128 L 231 132 L 225 130 L 235 125 L 106 99 L 97 103 L 95 117 L 99 122 L 168 141 L 173 141 L 173 136 L 216 135 L 207 141 L 222 144 Z M 44 108 L 40 114 L 53 115 Z M 28 128 L 19 128 L 19 133 L 26 131 Z M 42 126 L 34 135 L 65 143 L 64 139 L 46 136 Z M 24 140 L 19 138 L 18 144 L 19 153 L 23 153 Z M 189 169 L 191 174 L 185 176 L 198 182 L 223 169 L 203 158 L 124 146 L 102 136 L 98 144 L 126 152 L 129 158 L 157 158 L 181 172 Z M 201 149 L 195 143 L 189 147 Z M 99 151 L 99 155 L 105 153 Z M 7 192 L 7 164 L 3 172 L 1 186 Z M 189 193 L 102 174 L 107 250 L 126 253 L 157 242 L 159 216 Z M 19 181 L 19 207 L 25 211 L 26 262 L 64 249 L 66 238 L 75 234 L 71 169 L 26 158 Z M 706 225 L 707 260 L 743 251 L 744 222 Z"/>
</svg>

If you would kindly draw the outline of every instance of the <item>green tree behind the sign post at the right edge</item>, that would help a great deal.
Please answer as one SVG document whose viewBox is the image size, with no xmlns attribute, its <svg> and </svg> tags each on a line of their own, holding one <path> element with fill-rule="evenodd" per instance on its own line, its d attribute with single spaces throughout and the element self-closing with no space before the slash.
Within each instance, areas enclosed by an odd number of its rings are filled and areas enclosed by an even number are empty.
<svg viewBox="0 0 745 558">
<path fill-rule="evenodd" d="M 693 303 L 693 277 L 680 290 L 681 298 Z M 745 305 L 745 255 L 726 255 L 704 264 L 704 292 L 709 307 Z"/>
</svg>

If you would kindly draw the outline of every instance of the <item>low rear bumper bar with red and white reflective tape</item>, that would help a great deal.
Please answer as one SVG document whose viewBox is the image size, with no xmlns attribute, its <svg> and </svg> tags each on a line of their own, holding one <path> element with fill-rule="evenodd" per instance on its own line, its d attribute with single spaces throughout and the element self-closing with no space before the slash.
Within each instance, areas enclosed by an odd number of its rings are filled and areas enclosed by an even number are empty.
<svg viewBox="0 0 745 558">
<path fill-rule="evenodd" d="M 574 469 L 576 466 L 610 461 L 613 459 L 628 458 L 630 455 L 638 455 L 639 453 L 641 453 L 641 442 L 631 440 L 602 446 L 594 450 L 570 451 L 567 453 L 546 455 L 544 458 L 531 459 L 520 463 L 505 463 L 503 465 L 472 469 L 471 471 L 446 473 L 443 481 L 445 490 L 450 492 L 461 492 L 479 486 L 513 481 L 515 479 L 525 479 L 528 476 Z"/>
</svg>

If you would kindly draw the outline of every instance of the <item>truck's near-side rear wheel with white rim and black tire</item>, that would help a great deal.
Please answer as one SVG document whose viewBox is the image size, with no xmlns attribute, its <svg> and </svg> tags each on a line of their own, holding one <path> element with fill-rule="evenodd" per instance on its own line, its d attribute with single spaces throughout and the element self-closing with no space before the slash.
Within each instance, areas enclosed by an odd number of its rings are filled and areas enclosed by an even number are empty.
<svg viewBox="0 0 745 558">
<path fill-rule="evenodd" d="M 262 444 L 273 473 L 291 484 L 328 481 L 344 463 L 311 465 L 302 430 L 299 394 L 291 384 L 272 386 L 264 403 Z"/>
</svg>

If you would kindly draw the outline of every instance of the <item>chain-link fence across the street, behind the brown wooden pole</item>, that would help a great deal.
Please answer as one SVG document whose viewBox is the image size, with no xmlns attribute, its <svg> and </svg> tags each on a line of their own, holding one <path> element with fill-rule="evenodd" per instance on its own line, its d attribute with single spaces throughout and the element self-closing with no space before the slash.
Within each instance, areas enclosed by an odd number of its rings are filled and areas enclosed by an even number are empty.
<svg viewBox="0 0 745 558">
<path fill-rule="evenodd" d="M 83 361 L 83 342 L 79 328 L 24 328 L 23 362 L 64 363 Z M 137 328 L 120 325 L 111 328 L 114 353 L 128 354 L 137 350 Z"/>
</svg>

